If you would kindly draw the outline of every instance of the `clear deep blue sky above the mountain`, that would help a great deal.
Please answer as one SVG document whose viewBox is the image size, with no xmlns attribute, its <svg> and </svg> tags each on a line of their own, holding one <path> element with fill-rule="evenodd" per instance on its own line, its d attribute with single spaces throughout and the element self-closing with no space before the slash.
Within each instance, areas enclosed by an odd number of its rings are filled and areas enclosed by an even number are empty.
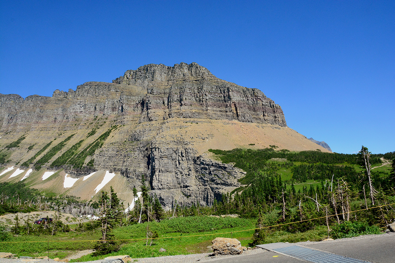
<svg viewBox="0 0 395 263">
<path fill-rule="evenodd" d="M 395 150 L 395 1 L 0 2 L 0 93 L 156 63 L 259 88 L 335 152 Z"/>
</svg>

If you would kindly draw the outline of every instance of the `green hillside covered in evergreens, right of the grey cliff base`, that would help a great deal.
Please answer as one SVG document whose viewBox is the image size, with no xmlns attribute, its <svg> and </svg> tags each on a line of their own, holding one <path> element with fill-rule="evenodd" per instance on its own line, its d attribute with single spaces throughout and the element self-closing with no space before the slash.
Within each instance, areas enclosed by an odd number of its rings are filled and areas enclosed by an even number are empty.
<svg viewBox="0 0 395 263">
<path fill-rule="evenodd" d="M 240 181 L 247 186 L 236 189 L 232 195 L 222 195 L 221 202 L 213 206 L 217 213 L 256 218 L 258 209 L 263 213 L 276 209 L 279 211 L 276 222 L 287 223 L 325 216 L 325 207 L 329 215 L 342 213 L 329 218 L 329 224 L 333 224 L 350 220 L 347 211 L 394 201 L 395 177 L 374 169 L 369 169 L 368 175 L 360 154 L 289 152 L 272 148 L 209 151 L 222 162 L 234 163 L 246 171 Z M 379 157 L 379 154 L 369 155 L 369 163 L 381 163 Z M 369 225 L 384 226 L 391 218 L 389 214 L 395 216 L 391 209 L 372 209 L 357 213 L 357 217 L 361 216 Z M 322 224 L 324 221 L 316 220 L 282 229 L 303 232 Z"/>
</svg>

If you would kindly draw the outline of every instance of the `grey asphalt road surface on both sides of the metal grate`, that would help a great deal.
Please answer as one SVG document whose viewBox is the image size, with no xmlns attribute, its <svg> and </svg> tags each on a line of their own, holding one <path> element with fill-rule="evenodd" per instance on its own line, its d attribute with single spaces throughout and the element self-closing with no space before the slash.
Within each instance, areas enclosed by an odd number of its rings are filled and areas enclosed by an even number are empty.
<svg viewBox="0 0 395 263">
<path fill-rule="evenodd" d="M 395 235 L 380 235 L 375 237 L 366 237 L 363 239 L 338 239 L 326 242 L 303 242 L 299 244 L 308 248 L 323 250 L 337 255 L 352 257 L 373 263 L 395 263 Z M 297 243 L 296 243 L 297 244 Z M 273 257 L 278 255 L 278 257 Z M 301 263 L 303 260 L 277 254 L 275 252 L 263 252 L 243 257 L 218 259 L 215 263 L 273 263 L 289 262 Z M 309 262 L 309 261 L 308 261 Z"/>
</svg>

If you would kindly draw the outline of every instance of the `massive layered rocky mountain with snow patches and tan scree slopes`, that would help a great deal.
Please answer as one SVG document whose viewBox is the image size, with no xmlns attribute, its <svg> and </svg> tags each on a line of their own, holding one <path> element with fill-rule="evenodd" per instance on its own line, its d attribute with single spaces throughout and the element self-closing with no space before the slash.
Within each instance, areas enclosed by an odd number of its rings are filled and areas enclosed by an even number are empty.
<svg viewBox="0 0 395 263">
<path fill-rule="evenodd" d="M 0 181 L 87 201 L 113 186 L 132 204 L 144 176 L 165 209 L 212 205 L 240 186 L 245 173 L 210 148 L 317 148 L 263 92 L 196 63 L 149 64 L 52 97 L 1 94 L 0 125 Z"/>
</svg>

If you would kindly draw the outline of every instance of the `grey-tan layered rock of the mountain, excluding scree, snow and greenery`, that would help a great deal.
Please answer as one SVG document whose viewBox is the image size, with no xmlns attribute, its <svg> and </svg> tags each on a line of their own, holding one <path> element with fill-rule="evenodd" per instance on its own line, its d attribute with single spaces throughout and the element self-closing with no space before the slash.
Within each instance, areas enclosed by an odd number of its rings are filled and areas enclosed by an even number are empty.
<svg viewBox="0 0 395 263">
<path fill-rule="evenodd" d="M 176 202 L 211 205 L 222 192 L 238 187 L 237 179 L 243 176 L 232 165 L 198 154 L 195 146 L 214 135 L 205 128 L 195 134 L 195 124 L 224 120 L 286 128 L 281 107 L 263 92 L 218 79 L 196 63 L 149 64 L 126 71 L 113 83 L 87 82 L 75 91 L 55 90 L 52 97 L 0 94 L 0 103 L 1 147 L 26 137 L 10 150 L 9 162 L 26 162 L 49 142 L 54 146 L 75 134 L 43 164 L 50 167 L 73 145 L 75 157 L 116 126 L 84 157 L 82 167 L 66 162 L 59 168 L 75 176 L 109 169 L 128 178 L 130 188 L 138 187 L 145 175 L 151 193 L 166 209 Z"/>
</svg>

